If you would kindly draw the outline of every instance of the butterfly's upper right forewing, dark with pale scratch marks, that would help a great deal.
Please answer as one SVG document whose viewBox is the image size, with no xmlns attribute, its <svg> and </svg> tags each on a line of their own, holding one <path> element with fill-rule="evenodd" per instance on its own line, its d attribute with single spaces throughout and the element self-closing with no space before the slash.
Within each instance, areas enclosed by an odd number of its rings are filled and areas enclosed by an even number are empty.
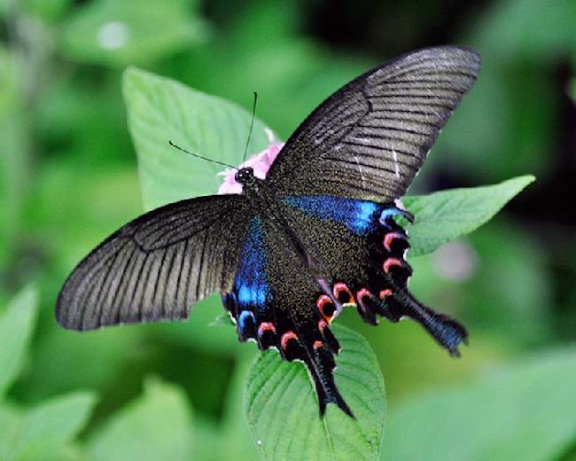
<svg viewBox="0 0 576 461">
<path fill-rule="evenodd" d="M 476 51 L 443 46 L 361 75 L 296 129 L 269 184 L 282 194 L 401 197 L 479 69 Z"/>
</svg>

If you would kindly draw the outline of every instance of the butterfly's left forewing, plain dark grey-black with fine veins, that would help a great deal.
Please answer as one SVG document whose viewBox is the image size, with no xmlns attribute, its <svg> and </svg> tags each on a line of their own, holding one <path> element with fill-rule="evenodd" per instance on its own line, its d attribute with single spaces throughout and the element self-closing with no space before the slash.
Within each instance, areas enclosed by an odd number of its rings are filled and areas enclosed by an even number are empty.
<svg viewBox="0 0 576 461">
<path fill-rule="evenodd" d="M 251 214 L 240 195 L 187 199 L 142 215 L 97 246 L 58 295 L 73 330 L 186 318 L 230 288 Z"/>
</svg>

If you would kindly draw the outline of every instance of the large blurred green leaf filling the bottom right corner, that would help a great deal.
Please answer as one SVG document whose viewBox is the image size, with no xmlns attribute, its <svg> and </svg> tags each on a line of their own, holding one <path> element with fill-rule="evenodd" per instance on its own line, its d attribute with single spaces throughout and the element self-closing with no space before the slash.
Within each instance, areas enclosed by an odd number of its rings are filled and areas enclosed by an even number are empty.
<svg viewBox="0 0 576 461">
<path fill-rule="evenodd" d="M 557 349 L 421 395 L 391 414 L 382 459 L 558 459 L 576 435 L 574 382 L 576 349 Z"/>
</svg>

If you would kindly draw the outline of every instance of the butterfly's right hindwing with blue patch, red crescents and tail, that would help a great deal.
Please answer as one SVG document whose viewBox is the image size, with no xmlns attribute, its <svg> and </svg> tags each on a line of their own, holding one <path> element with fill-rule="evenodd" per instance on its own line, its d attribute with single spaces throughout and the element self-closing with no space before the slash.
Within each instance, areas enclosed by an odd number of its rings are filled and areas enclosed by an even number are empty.
<svg viewBox="0 0 576 461">
<path fill-rule="evenodd" d="M 284 215 L 299 232 L 310 257 L 328 274 L 326 284 L 337 302 L 316 288 L 315 305 L 331 321 L 338 303 L 355 306 L 362 319 L 377 324 L 378 316 L 393 322 L 409 317 L 457 356 L 467 339 L 464 327 L 449 316 L 427 308 L 409 292 L 412 274 L 405 260 L 408 234 L 393 219 L 410 215 L 393 202 L 379 204 L 333 196 L 284 198 Z"/>
</svg>

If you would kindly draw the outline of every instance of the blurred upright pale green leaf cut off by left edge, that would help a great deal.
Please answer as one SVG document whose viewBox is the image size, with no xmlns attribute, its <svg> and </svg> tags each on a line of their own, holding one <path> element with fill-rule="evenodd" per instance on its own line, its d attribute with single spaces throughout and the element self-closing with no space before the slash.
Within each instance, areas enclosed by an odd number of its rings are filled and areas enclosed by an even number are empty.
<svg viewBox="0 0 576 461">
<path fill-rule="evenodd" d="M 22 369 L 37 308 L 38 296 L 27 288 L 0 315 L 0 398 Z"/>
</svg>

